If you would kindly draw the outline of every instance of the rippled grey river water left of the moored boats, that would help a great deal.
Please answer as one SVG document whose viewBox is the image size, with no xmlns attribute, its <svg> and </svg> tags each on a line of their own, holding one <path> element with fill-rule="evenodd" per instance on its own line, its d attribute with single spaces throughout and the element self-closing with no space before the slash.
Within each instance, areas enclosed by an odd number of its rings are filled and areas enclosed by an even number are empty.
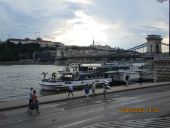
<svg viewBox="0 0 170 128">
<path fill-rule="evenodd" d="M 64 67 L 56 65 L 10 65 L 0 66 L 0 101 L 23 99 L 28 97 L 29 88 L 37 90 L 38 95 L 44 95 L 39 82 L 42 72 L 58 73 Z"/>
</svg>

